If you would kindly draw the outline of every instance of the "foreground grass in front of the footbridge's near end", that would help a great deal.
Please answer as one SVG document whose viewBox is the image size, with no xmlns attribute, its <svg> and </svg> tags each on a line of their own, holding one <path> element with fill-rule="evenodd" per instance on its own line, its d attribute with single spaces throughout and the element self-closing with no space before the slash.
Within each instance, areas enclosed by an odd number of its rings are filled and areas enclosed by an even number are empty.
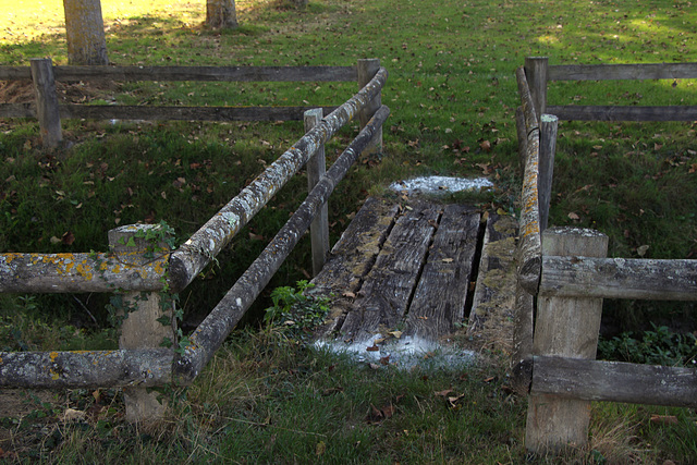
<svg viewBox="0 0 697 465">
<path fill-rule="evenodd" d="M 2 427 L 27 463 L 690 463 L 697 448 L 694 412 L 594 404 L 587 446 L 528 456 L 501 360 L 374 368 L 274 331 L 231 338 L 183 396 L 166 394 L 159 425 L 124 423 L 115 390 L 73 390 L 25 394 L 28 414 Z"/>
</svg>

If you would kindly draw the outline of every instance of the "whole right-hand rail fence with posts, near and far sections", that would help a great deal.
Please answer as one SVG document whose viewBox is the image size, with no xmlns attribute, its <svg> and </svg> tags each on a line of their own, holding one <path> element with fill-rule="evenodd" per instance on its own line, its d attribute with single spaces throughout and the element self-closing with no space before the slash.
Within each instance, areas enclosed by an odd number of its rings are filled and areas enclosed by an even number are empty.
<svg viewBox="0 0 697 465">
<path fill-rule="evenodd" d="M 529 401 L 526 448 L 547 453 L 587 442 L 590 401 L 697 406 L 693 368 L 595 359 L 603 298 L 697 301 L 697 260 L 607 258 L 602 233 L 547 229 L 559 119 L 693 121 L 697 107 L 552 107 L 547 82 L 697 77 L 697 64 L 548 66 L 528 58 L 516 77 L 524 184 L 512 372 Z"/>
</svg>

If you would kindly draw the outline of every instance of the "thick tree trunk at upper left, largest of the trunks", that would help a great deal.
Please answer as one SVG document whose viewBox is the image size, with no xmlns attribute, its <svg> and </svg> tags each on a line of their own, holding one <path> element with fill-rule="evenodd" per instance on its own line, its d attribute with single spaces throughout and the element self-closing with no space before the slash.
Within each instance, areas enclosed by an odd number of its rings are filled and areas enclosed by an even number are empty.
<svg viewBox="0 0 697 465">
<path fill-rule="evenodd" d="M 100 0 L 63 0 L 69 64 L 109 64 Z"/>
</svg>

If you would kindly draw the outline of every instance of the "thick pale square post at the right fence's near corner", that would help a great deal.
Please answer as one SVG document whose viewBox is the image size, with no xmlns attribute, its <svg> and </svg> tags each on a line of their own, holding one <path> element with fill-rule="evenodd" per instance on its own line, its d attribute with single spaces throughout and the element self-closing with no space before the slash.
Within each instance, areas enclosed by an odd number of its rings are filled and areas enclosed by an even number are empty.
<svg viewBox="0 0 697 465">
<path fill-rule="evenodd" d="M 594 230 L 552 228 L 542 236 L 542 255 L 606 257 L 607 253 L 608 236 Z M 601 313 L 602 298 L 538 296 L 533 353 L 596 358 Z M 525 430 L 525 446 L 529 451 L 553 453 L 588 441 L 590 402 L 534 391 L 535 384 L 528 397 Z"/>
</svg>

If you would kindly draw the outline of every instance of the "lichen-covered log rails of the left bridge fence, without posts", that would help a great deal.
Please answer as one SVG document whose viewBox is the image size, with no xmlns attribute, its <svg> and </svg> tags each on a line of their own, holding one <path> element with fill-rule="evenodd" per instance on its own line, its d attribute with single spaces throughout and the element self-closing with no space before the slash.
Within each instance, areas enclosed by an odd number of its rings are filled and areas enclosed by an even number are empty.
<svg viewBox="0 0 697 465">
<path fill-rule="evenodd" d="M 138 279 L 133 279 L 132 272 L 135 268 L 131 267 L 127 268 L 131 280 L 119 280 L 119 273 L 126 269 L 122 262 L 126 257 L 122 255 L 121 249 L 114 249 L 109 254 L 0 254 L 0 278 L 3 273 L 5 278 L 16 278 L 0 279 L 0 292 L 56 292 L 57 285 L 63 290 L 61 292 L 84 292 L 87 287 L 93 292 L 181 291 L 198 274 L 196 267 L 210 261 L 227 244 L 225 241 L 229 242 L 242 228 L 243 222 L 249 221 L 325 142 L 355 119 L 369 102 L 379 98 L 387 76 L 387 70 L 380 68 L 365 87 L 308 131 L 186 244 L 173 253 L 167 250 L 167 254 L 161 254 L 152 260 L 140 262 L 140 268 L 137 268 L 140 273 Z M 381 106 L 367 121 L 356 138 L 315 184 L 305 201 L 279 231 L 265 253 L 255 260 L 192 334 L 184 353 L 179 353 L 179 350 L 147 347 L 119 351 L 2 352 L 0 387 L 113 386 L 132 388 L 129 392 L 145 392 L 146 387 L 163 386 L 173 381 L 191 383 L 309 228 L 334 186 L 344 178 L 358 155 L 372 143 L 388 115 L 389 109 Z M 241 212 L 239 217 L 237 212 Z M 138 225 L 133 229 L 145 227 Z M 213 245 L 209 245 L 209 241 L 212 241 Z M 124 243 L 124 246 L 127 249 L 129 243 Z M 19 283 L 24 271 L 34 266 L 41 268 L 39 273 L 34 269 L 34 274 L 38 274 L 34 284 Z M 168 267 L 169 271 L 164 271 Z M 181 269 L 185 270 L 183 276 L 178 274 L 178 270 Z M 170 282 L 166 283 L 163 278 L 168 276 Z M 137 285 L 133 282 L 137 282 Z"/>
</svg>

